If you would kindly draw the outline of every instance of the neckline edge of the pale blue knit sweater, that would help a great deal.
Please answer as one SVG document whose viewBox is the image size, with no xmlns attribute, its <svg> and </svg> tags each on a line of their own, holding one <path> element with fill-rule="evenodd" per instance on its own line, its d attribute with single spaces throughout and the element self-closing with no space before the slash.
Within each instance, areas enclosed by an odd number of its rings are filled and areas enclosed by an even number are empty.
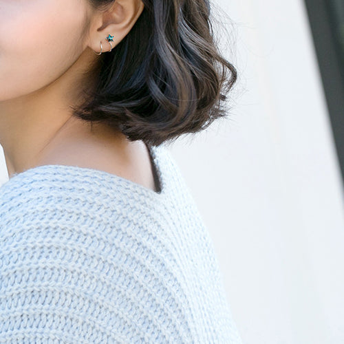
<svg viewBox="0 0 344 344">
<path fill-rule="evenodd" d="M 147 188 L 146 186 L 143 186 L 142 184 L 138 184 L 136 182 L 133 182 L 132 180 L 129 180 L 127 178 L 121 177 L 120 175 L 116 175 L 114 173 L 109 173 L 107 171 L 103 171 L 100 169 L 94 169 L 91 167 L 80 167 L 80 166 L 74 166 L 74 165 L 67 165 L 67 164 L 44 164 L 39 166 L 34 166 L 30 169 L 27 169 L 25 171 L 22 171 L 20 173 L 14 173 L 12 175 L 12 178 L 6 182 L 6 184 L 10 182 L 14 182 L 17 178 L 29 178 L 30 175 L 35 175 L 39 171 L 44 172 L 44 170 L 47 171 L 63 171 L 64 173 L 67 173 L 67 175 L 83 175 L 87 180 L 96 180 L 97 182 L 100 182 L 103 187 L 107 188 L 108 186 L 114 187 L 119 186 L 121 188 L 125 188 L 126 190 L 133 191 L 136 194 L 142 195 L 144 197 L 148 197 L 149 199 L 162 199 L 166 197 L 168 184 L 167 179 L 164 173 L 166 171 L 164 170 L 163 162 L 162 162 L 162 152 L 160 151 L 160 147 L 154 147 L 149 144 L 146 145 L 147 149 L 149 151 L 150 159 L 151 159 L 151 166 L 153 171 L 153 174 L 156 175 L 156 181 L 155 184 L 158 184 L 158 191 L 153 191 L 152 189 Z M 43 173 L 44 174 L 44 173 Z M 46 174 L 44 174 L 46 175 Z"/>
</svg>

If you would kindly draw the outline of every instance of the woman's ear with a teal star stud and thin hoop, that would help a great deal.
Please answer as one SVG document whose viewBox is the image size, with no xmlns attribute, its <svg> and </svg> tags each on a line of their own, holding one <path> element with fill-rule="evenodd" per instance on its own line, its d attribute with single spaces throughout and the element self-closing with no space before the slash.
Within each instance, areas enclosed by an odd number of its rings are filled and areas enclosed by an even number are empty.
<svg viewBox="0 0 344 344">
<path fill-rule="evenodd" d="M 142 0 L 115 0 L 105 10 L 96 10 L 89 26 L 89 47 L 98 52 L 100 41 L 103 52 L 108 52 L 111 46 L 106 37 L 111 34 L 111 41 L 115 47 L 129 33 L 144 9 Z"/>
</svg>

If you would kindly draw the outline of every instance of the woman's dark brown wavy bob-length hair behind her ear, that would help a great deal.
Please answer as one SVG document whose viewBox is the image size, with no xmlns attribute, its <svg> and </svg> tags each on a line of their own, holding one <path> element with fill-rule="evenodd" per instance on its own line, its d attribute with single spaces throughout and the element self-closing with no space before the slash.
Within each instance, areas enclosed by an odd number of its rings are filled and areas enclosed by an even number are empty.
<svg viewBox="0 0 344 344">
<path fill-rule="evenodd" d="M 97 9 L 114 3 L 88 1 Z M 226 116 L 223 103 L 237 71 L 219 54 L 208 0 L 142 2 L 127 36 L 92 68 L 95 87 L 72 109 L 74 116 L 104 122 L 131 141 L 158 146 Z"/>
</svg>

